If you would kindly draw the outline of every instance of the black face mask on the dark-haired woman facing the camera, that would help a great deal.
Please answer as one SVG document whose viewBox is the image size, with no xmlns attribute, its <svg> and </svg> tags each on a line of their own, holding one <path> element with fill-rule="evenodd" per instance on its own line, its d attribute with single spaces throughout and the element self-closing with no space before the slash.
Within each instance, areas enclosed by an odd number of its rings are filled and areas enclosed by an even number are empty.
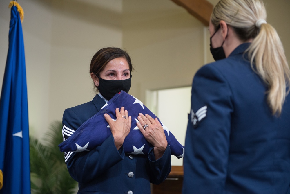
<svg viewBox="0 0 290 194">
<path fill-rule="evenodd" d="M 115 94 L 119 93 L 121 90 L 125 91 L 126 93 L 129 92 L 131 87 L 131 78 L 126 80 L 104 80 L 100 77 L 99 78 L 99 92 L 106 98 L 107 100 L 111 100 Z"/>
</svg>

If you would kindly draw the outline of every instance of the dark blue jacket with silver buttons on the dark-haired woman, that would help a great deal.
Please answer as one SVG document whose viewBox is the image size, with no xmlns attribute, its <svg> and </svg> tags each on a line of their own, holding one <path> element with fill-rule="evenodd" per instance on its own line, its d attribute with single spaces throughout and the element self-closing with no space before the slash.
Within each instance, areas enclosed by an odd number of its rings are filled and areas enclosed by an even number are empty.
<svg viewBox="0 0 290 194">
<path fill-rule="evenodd" d="M 82 123 L 99 112 L 103 105 L 105 101 L 96 95 L 88 103 L 66 109 L 63 116 L 64 127 L 77 130 Z M 150 182 L 160 184 L 171 171 L 169 147 L 158 160 L 155 160 L 152 148 L 148 156 L 129 155 L 124 153 L 123 147 L 117 150 L 113 135 L 94 150 L 70 154 L 66 164 L 70 175 L 79 182 L 78 193 L 148 194 Z"/>
</svg>

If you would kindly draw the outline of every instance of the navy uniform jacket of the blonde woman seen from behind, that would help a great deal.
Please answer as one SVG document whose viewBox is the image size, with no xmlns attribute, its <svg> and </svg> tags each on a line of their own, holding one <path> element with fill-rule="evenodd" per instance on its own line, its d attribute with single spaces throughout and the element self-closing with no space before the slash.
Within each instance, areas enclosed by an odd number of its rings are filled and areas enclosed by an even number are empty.
<svg viewBox="0 0 290 194">
<path fill-rule="evenodd" d="M 248 46 L 194 76 L 183 193 L 290 193 L 290 95 L 273 116 Z"/>
</svg>

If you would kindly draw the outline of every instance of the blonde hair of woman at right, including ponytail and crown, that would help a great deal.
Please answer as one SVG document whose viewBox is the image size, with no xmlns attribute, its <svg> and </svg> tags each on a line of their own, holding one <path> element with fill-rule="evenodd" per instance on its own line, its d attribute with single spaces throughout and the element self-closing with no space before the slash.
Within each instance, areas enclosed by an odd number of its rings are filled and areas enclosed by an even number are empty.
<svg viewBox="0 0 290 194">
<path fill-rule="evenodd" d="M 246 51 L 251 67 L 268 87 L 267 103 L 273 115 L 280 115 L 289 94 L 290 70 L 281 40 L 266 17 L 262 0 L 220 0 L 211 22 L 217 27 L 223 20 L 241 41 L 253 40 Z"/>
</svg>

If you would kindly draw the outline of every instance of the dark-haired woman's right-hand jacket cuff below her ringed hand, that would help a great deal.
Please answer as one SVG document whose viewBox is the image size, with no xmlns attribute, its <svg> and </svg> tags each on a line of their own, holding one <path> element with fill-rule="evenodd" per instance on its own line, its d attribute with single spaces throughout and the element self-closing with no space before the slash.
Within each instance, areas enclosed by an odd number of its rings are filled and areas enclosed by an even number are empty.
<svg viewBox="0 0 290 194">
<path fill-rule="evenodd" d="M 149 166 L 150 166 L 150 182 L 153 184 L 162 183 L 171 171 L 171 150 L 167 148 L 161 158 L 155 160 L 153 147 L 148 152 Z"/>
</svg>

